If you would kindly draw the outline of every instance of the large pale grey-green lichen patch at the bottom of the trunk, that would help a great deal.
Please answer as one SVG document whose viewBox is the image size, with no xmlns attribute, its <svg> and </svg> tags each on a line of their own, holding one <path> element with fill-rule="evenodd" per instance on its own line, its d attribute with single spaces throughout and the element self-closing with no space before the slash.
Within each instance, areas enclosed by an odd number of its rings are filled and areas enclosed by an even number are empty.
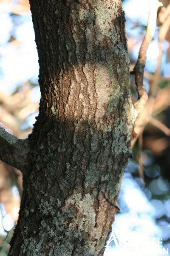
<svg viewBox="0 0 170 256">
<path fill-rule="evenodd" d="M 29 239 L 24 239 L 28 230 L 22 233 L 23 253 L 42 255 L 47 246 L 44 241 L 49 239 L 51 246 L 49 247 L 48 243 L 48 255 L 72 255 L 74 247 L 75 253 L 81 252 L 83 256 L 95 255 L 100 250 L 100 246 L 96 247 L 97 240 L 95 240 L 99 239 L 100 233 L 94 227 L 95 211 L 93 205 L 93 196 L 86 194 L 82 197 L 80 193 L 75 192 L 66 201 L 65 207 L 57 212 L 52 219 L 44 218 L 41 221 L 38 233 L 34 230 Z M 93 239 L 91 240 L 90 237 Z M 103 245 L 104 241 L 103 237 L 99 244 Z M 84 244 L 83 247 L 82 243 Z"/>
</svg>

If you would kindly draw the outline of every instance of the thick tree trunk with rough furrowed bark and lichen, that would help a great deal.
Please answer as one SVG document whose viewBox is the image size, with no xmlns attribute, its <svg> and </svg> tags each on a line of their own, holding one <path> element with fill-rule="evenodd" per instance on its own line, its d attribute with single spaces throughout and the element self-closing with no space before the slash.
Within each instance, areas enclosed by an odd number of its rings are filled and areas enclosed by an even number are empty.
<svg viewBox="0 0 170 256">
<path fill-rule="evenodd" d="M 40 113 L 9 255 L 102 255 L 135 120 L 121 0 L 30 0 Z"/>
</svg>

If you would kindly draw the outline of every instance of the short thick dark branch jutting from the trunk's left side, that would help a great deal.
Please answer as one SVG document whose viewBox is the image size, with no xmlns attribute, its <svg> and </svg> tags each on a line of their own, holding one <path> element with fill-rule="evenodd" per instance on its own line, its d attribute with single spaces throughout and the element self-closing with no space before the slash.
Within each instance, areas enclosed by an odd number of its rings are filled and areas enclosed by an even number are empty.
<svg viewBox="0 0 170 256">
<path fill-rule="evenodd" d="M 19 140 L 0 128 L 0 160 L 25 172 L 29 169 L 28 153 L 28 140 Z"/>
</svg>

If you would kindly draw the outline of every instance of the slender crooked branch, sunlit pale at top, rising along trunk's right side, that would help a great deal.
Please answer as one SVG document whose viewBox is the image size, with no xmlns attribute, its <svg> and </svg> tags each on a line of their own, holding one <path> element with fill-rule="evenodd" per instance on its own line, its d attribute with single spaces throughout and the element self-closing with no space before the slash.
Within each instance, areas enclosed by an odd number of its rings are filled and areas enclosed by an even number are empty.
<svg viewBox="0 0 170 256">
<path fill-rule="evenodd" d="M 135 102 L 134 106 L 138 114 L 142 111 L 148 99 L 148 95 L 143 84 L 144 67 L 146 64 L 146 52 L 150 42 L 152 41 L 153 34 L 156 29 L 156 17 L 157 17 L 157 10 L 159 6 L 162 6 L 162 3 L 160 3 L 158 0 L 150 0 L 150 11 L 149 11 L 147 29 L 144 35 L 141 48 L 139 50 L 138 60 L 134 67 L 136 90 L 138 93 L 138 100 Z"/>
</svg>

